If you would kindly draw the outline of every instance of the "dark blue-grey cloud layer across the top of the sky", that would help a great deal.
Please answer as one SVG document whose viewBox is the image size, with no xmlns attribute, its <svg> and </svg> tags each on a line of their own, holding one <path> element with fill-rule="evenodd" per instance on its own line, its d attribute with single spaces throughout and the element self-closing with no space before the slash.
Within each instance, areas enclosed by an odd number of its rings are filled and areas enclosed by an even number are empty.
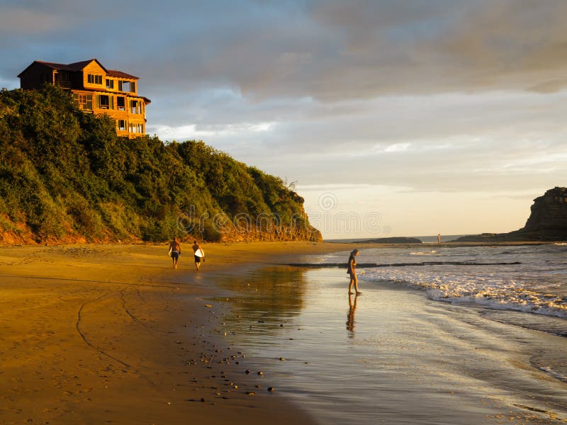
<svg viewBox="0 0 567 425">
<path fill-rule="evenodd" d="M 529 0 L 144 6 L 103 0 L 81 7 L 70 0 L 48 7 L 14 1 L 0 9 L 0 28 L 44 51 L 71 35 L 67 50 L 52 60 L 99 57 L 109 67 L 142 70 L 142 83 L 159 96 L 224 88 L 250 101 L 336 102 L 494 89 L 558 91 L 567 72 L 567 3 L 532 6 Z M 77 57 L 81 52 L 84 57 Z"/>
</svg>

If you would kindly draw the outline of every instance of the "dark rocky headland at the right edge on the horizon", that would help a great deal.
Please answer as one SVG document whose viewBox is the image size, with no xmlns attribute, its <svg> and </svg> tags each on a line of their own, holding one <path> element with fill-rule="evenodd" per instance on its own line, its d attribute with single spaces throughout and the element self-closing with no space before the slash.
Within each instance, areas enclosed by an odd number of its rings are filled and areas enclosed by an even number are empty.
<svg viewBox="0 0 567 425">
<path fill-rule="evenodd" d="M 466 236 L 457 242 L 564 241 L 567 239 L 567 188 L 553 188 L 534 199 L 526 225 L 510 233 Z"/>
</svg>

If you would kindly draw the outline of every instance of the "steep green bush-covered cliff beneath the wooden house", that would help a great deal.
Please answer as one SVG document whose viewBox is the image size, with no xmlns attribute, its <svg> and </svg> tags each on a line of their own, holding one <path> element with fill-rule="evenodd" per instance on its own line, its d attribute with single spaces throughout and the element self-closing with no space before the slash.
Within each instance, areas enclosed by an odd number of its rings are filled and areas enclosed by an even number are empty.
<svg viewBox="0 0 567 425">
<path fill-rule="evenodd" d="M 0 242 L 173 236 L 320 239 L 281 179 L 203 142 L 117 137 L 54 86 L 0 94 Z"/>
</svg>

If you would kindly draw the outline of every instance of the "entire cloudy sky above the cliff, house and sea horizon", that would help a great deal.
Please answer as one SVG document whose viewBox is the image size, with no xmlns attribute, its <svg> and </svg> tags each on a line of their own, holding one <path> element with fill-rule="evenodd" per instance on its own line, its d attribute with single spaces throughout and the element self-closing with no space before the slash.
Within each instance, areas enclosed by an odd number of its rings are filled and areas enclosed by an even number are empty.
<svg viewBox="0 0 567 425">
<path fill-rule="evenodd" d="M 326 239 L 509 232 L 567 186 L 565 0 L 0 0 L 33 60 L 140 77 L 147 132 L 293 185 Z"/>
</svg>

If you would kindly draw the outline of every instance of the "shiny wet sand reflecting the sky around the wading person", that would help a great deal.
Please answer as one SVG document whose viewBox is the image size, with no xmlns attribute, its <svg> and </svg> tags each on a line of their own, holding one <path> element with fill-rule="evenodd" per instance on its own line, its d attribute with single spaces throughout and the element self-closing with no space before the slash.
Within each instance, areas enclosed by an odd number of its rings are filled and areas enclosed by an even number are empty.
<svg viewBox="0 0 567 425">
<path fill-rule="evenodd" d="M 567 422 L 564 337 L 387 283 L 349 297 L 340 269 L 216 280 L 231 294 L 227 342 L 322 423 Z"/>
</svg>

